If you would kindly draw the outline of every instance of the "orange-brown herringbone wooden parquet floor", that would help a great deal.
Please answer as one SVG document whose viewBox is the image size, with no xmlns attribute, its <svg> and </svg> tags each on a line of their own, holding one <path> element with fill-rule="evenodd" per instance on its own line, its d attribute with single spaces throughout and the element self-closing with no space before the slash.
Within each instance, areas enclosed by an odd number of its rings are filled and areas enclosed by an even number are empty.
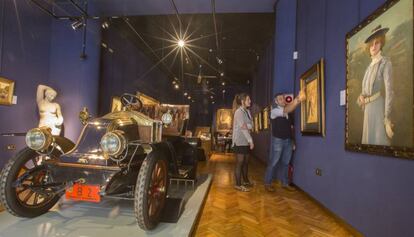
<svg viewBox="0 0 414 237">
<path fill-rule="evenodd" d="M 195 236 L 353 236 L 302 192 L 281 188 L 266 192 L 265 167 L 257 160 L 249 164 L 250 180 L 256 183 L 252 191 L 236 191 L 234 162 L 232 154 L 213 154 L 200 162 L 200 172 L 213 173 L 214 178 Z"/>
</svg>

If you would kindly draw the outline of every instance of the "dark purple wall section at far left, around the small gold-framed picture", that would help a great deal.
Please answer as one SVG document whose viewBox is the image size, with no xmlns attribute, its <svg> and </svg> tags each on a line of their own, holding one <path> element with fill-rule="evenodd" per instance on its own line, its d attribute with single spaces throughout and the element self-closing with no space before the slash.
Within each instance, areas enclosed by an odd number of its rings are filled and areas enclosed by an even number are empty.
<svg viewBox="0 0 414 237">
<path fill-rule="evenodd" d="M 0 105 L 0 133 L 25 132 L 37 126 L 36 87 L 49 78 L 51 19 L 26 1 L 2 0 L 0 76 L 15 81 L 17 104 Z M 15 153 L 8 144 L 24 145 L 22 137 L 0 136 L 0 168 Z"/>
</svg>

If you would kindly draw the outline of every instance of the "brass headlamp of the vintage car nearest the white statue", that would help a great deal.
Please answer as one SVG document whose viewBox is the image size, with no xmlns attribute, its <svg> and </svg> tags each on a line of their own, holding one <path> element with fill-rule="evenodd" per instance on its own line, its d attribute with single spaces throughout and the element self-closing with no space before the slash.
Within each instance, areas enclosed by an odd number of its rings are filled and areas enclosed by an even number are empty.
<svg viewBox="0 0 414 237">
<path fill-rule="evenodd" d="M 49 128 L 33 128 L 26 133 L 26 145 L 35 151 L 47 149 L 53 142 L 53 135 Z"/>
</svg>

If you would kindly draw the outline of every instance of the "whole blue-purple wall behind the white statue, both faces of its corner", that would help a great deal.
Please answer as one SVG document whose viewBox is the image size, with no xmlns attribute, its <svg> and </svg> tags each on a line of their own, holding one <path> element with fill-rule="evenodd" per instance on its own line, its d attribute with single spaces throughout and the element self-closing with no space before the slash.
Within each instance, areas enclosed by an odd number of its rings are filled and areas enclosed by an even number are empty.
<svg viewBox="0 0 414 237">
<path fill-rule="evenodd" d="M 3 0 L 0 76 L 15 81 L 17 105 L 0 106 L 0 133 L 26 132 L 38 125 L 36 88 L 46 84 L 58 91 L 65 135 L 74 140 L 80 132 L 78 113 L 87 106 L 97 110 L 100 24 L 88 27 L 87 60 L 81 61 L 81 32 L 68 21 L 56 21 L 29 1 Z M 15 144 L 15 151 L 7 151 Z M 24 146 L 23 137 L 0 137 L 0 168 Z"/>
</svg>

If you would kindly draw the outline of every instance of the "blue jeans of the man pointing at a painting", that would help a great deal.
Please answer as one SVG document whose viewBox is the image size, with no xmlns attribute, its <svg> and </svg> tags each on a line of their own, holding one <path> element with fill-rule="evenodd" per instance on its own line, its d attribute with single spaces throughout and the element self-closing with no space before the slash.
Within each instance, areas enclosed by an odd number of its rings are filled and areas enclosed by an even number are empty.
<svg viewBox="0 0 414 237">
<path fill-rule="evenodd" d="M 277 163 L 282 161 L 282 185 L 287 186 L 289 184 L 289 163 L 292 158 L 292 140 L 291 139 L 280 139 L 273 137 L 273 156 L 270 157 L 265 174 L 265 185 L 272 184 L 273 170 Z"/>
</svg>

